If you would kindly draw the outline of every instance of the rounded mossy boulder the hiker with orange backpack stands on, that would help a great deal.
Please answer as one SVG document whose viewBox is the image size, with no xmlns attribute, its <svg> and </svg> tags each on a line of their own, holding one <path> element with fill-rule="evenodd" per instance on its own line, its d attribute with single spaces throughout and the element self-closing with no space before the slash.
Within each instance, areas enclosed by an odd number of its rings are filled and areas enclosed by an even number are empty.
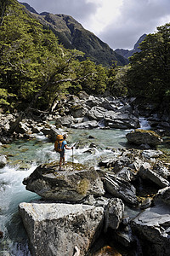
<svg viewBox="0 0 170 256">
<path fill-rule="evenodd" d="M 38 166 L 23 183 L 26 189 L 45 199 L 56 201 L 81 201 L 88 195 L 104 195 L 103 182 L 94 167 L 67 163 L 63 171 L 59 163 Z"/>
</svg>

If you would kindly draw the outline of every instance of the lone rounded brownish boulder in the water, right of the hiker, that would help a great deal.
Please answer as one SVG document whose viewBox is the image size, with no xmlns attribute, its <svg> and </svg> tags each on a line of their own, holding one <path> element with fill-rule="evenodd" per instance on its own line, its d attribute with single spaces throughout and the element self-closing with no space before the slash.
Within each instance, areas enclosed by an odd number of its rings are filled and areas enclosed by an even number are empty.
<svg viewBox="0 0 170 256">
<path fill-rule="evenodd" d="M 151 147 L 156 147 L 162 143 L 161 137 L 156 134 L 155 131 L 146 131 L 142 129 L 136 129 L 127 133 L 126 135 L 128 143 L 134 143 L 137 145 L 148 144 Z"/>
</svg>

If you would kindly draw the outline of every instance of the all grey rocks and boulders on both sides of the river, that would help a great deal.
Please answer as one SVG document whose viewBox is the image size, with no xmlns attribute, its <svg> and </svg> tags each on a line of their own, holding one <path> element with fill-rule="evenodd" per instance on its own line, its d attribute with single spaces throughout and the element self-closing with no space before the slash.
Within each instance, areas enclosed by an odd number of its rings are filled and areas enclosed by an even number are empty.
<svg viewBox="0 0 170 256">
<path fill-rule="evenodd" d="M 19 207 L 32 255 L 94 256 L 105 245 L 122 255 L 170 254 L 170 165 L 156 149 L 168 134 L 169 119 L 149 112 L 156 132 L 139 130 L 139 109 L 125 98 L 67 96 L 50 116 L 1 115 L 3 145 L 36 133 L 54 142 L 60 128 L 133 129 L 127 132 L 132 148 L 112 148 L 95 168 L 68 162 L 59 172 L 59 162 L 50 162 L 24 179 L 26 189 L 42 198 Z M 74 147 L 88 147 L 93 155 L 98 146 L 93 137 L 88 143 L 77 141 Z M 1 155 L 0 166 L 5 165 Z"/>
</svg>

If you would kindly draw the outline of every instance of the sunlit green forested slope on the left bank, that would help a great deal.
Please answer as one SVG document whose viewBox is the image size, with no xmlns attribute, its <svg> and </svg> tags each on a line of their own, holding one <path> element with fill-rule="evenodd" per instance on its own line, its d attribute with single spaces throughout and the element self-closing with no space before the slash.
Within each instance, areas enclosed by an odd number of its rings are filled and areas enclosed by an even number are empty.
<svg viewBox="0 0 170 256">
<path fill-rule="evenodd" d="M 1 104 L 47 109 L 65 92 L 105 91 L 105 68 L 78 61 L 82 52 L 65 49 L 17 1 L 3 0 L 1 13 Z"/>
</svg>

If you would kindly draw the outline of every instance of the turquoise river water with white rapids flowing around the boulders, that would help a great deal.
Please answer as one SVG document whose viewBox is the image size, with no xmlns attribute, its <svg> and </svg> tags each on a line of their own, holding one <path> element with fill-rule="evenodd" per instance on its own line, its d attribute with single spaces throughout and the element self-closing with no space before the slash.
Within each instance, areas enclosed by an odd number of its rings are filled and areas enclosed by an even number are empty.
<svg viewBox="0 0 170 256">
<path fill-rule="evenodd" d="M 69 130 L 68 144 L 85 141 L 87 145 L 94 143 L 97 148 L 93 154 L 87 153 L 87 148 L 67 150 L 65 159 L 82 164 L 95 165 L 103 155 L 111 154 L 111 148 L 127 146 L 126 133 L 122 130 Z M 89 138 L 93 137 L 93 138 Z M 8 155 L 8 165 L 0 169 L 0 255 L 30 256 L 26 232 L 23 228 L 18 205 L 22 201 L 39 198 L 27 191 L 22 184 L 35 168 L 42 163 L 59 160 L 59 154 L 54 152 L 54 143 L 41 133 L 29 141 L 16 141 L 10 145 L 0 146 L 0 154 Z"/>
</svg>

